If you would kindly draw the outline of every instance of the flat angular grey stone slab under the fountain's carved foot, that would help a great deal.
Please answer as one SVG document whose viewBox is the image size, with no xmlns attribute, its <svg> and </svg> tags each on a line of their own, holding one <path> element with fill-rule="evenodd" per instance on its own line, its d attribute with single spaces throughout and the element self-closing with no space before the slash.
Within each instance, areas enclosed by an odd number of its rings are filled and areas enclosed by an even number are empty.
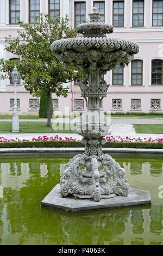
<svg viewBox="0 0 163 256">
<path fill-rule="evenodd" d="M 99 202 L 95 202 L 93 199 L 64 198 L 60 193 L 60 184 L 57 184 L 41 202 L 42 206 L 68 212 L 150 204 L 151 196 L 148 191 L 135 190 L 133 188 L 130 189 L 130 193 L 127 197 L 116 196 L 114 198 L 101 199 Z"/>
</svg>

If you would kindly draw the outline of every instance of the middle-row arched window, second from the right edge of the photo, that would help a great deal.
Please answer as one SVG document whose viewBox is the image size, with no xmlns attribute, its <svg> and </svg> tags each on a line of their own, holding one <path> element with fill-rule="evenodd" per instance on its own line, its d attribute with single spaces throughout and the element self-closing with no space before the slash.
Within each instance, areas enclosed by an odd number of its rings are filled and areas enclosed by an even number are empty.
<svg viewBox="0 0 163 256">
<path fill-rule="evenodd" d="M 131 62 L 131 85 L 142 86 L 142 60 L 133 60 Z"/>
</svg>

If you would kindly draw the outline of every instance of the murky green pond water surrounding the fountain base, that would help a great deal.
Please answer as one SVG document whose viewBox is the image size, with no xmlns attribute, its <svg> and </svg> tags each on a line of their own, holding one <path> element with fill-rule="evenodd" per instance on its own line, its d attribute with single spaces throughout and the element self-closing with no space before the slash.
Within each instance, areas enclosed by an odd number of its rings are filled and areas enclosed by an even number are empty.
<svg viewBox="0 0 163 256">
<path fill-rule="evenodd" d="M 0 244 L 163 245 L 163 157 L 113 157 L 130 187 L 151 193 L 151 206 L 76 214 L 43 208 L 70 157 L 0 157 Z"/>
</svg>

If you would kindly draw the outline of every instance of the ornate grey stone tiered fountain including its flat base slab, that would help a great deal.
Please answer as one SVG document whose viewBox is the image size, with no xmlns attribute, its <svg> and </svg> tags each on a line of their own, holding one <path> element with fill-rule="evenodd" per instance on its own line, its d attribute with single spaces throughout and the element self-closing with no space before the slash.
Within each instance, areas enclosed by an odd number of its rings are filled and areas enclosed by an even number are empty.
<svg viewBox="0 0 163 256">
<path fill-rule="evenodd" d="M 79 87 L 87 111 L 77 123 L 76 132 L 83 136 L 85 153 L 74 156 L 66 164 L 60 185 L 41 204 L 66 211 L 149 204 L 149 192 L 130 190 L 124 169 L 110 155 L 102 153 L 104 137 L 110 135 L 110 124 L 102 111 L 109 88 L 104 75 L 117 64 L 128 65 L 139 52 L 139 46 L 128 40 L 106 37 L 113 27 L 100 22 L 101 14 L 96 7 L 89 16 L 90 23 L 77 26 L 78 37 L 57 40 L 51 46 L 60 62 L 84 74 Z"/>
</svg>

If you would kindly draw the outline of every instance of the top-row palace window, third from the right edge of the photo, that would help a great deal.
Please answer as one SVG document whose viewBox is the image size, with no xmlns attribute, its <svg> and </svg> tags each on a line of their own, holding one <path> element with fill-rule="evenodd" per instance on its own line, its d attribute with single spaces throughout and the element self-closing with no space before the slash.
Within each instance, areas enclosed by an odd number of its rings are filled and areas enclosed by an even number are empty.
<svg viewBox="0 0 163 256">
<path fill-rule="evenodd" d="M 113 26 L 124 26 L 124 2 L 113 2 Z"/>
</svg>

